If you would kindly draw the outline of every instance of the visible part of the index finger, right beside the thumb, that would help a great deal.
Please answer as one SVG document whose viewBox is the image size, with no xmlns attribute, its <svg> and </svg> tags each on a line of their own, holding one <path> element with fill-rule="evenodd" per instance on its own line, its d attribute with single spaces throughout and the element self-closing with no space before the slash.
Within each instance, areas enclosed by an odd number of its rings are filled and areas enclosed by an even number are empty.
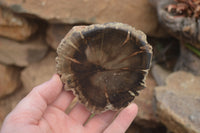
<svg viewBox="0 0 200 133">
<path fill-rule="evenodd" d="M 52 106 L 65 111 L 73 99 L 74 95 L 71 91 L 63 90 L 58 98 L 52 103 Z"/>
</svg>

